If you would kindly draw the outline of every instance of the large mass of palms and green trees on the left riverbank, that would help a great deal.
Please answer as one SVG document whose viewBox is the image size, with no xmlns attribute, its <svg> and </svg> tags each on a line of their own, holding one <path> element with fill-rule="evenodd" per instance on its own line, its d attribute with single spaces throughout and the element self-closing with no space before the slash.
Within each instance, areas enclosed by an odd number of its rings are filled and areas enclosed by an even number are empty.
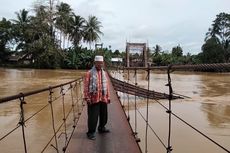
<svg viewBox="0 0 230 153">
<path fill-rule="evenodd" d="M 79 45 L 82 41 L 91 44 L 100 39 L 102 25 L 97 17 L 89 16 L 86 21 L 63 2 L 37 3 L 33 10 L 34 15 L 25 9 L 16 12 L 12 23 L 0 21 L 0 63 L 6 62 L 10 44 L 16 45 L 20 54 L 28 55 L 31 66 L 36 68 L 83 69 L 93 65 L 94 52 Z M 73 47 L 66 49 L 66 41 L 72 41 Z"/>
</svg>

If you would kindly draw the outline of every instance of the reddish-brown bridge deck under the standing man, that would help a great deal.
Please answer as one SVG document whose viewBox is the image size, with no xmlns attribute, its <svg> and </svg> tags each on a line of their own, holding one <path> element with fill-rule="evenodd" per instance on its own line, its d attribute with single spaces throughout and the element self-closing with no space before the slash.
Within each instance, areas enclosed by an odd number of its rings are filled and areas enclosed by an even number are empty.
<svg viewBox="0 0 230 153">
<path fill-rule="evenodd" d="M 135 141 L 116 92 L 110 83 L 111 104 L 108 105 L 107 128 L 110 133 L 96 133 L 96 140 L 89 140 L 87 132 L 87 107 L 84 107 L 67 153 L 141 153 Z"/>
</svg>

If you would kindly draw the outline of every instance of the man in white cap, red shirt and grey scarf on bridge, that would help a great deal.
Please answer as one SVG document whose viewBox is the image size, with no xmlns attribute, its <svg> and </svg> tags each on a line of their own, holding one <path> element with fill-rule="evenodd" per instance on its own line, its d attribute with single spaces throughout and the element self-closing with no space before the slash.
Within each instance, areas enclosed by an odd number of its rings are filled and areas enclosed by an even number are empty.
<svg viewBox="0 0 230 153">
<path fill-rule="evenodd" d="M 106 127 L 108 120 L 107 104 L 110 103 L 108 74 L 103 69 L 103 56 L 95 56 L 94 66 L 86 73 L 84 80 L 84 99 L 88 106 L 87 137 L 95 139 L 99 117 L 99 133 L 110 132 Z"/>
</svg>

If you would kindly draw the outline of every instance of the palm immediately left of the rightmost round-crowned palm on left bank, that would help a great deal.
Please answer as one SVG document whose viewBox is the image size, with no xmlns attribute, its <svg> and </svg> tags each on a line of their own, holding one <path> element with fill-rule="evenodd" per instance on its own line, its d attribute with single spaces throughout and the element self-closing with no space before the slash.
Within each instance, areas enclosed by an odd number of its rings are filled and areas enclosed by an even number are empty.
<svg viewBox="0 0 230 153">
<path fill-rule="evenodd" d="M 75 46 L 79 46 L 83 36 L 84 36 L 84 30 L 83 30 L 83 27 L 84 27 L 84 24 L 85 24 L 85 19 L 81 16 L 76 16 L 74 15 L 72 18 L 71 18 L 71 27 L 70 27 L 70 33 L 71 33 L 71 36 L 70 36 L 70 40 L 73 41 L 73 44 Z"/>
</svg>

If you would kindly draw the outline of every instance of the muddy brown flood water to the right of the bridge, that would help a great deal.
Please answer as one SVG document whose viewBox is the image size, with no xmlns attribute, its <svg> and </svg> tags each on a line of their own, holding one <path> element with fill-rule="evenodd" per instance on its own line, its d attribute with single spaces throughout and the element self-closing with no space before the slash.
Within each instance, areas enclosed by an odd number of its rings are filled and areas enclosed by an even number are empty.
<svg viewBox="0 0 230 153">
<path fill-rule="evenodd" d="M 114 73 L 116 78 L 123 80 L 122 74 Z M 146 72 L 139 71 L 137 83 L 147 88 Z M 125 74 L 127 81 L 127 73 Z M 168 93 L 166 72 L 154 72 L 150 74 L 150 89 Z M 171 74 L 174 93 L 182 94 L 190 98 L 172 101 L 172 111 L 199 129 L 210 138 L 230 150 L 230 73 L 198 73 L 198 72 L 174 72 Z M 130 83 L 135 84 L 134 73 L 130 72 Z M 121 100 L 127 106 L 127 95 L 120 93 Z M 130 105 L 134 108 L 134 96 L 129 96 Z M 137 98 L 140 112 L 146 117 L 146 101 Z M 167 100 L 160 100 L 168 106 Z M 158 103 L 149 102 L 149 124 L 167 146 L 168 140 L 168 114 Z M 128 111 L 126 112 L 128 114 Z M 129 111 L 131 125 L 134 128 L 135 111 Z M 146 123 L 137 112 L 137 131 L 141 138 L 140 146 L 145 152 Z M 196 131 L 172 117 L 171 131 L 172 152 L 175 153 L 224 153 L 212 142 L 198 134 Z M 166 152 L 163 145 L 148 128 L 148 152 Z"/>
</svg>

